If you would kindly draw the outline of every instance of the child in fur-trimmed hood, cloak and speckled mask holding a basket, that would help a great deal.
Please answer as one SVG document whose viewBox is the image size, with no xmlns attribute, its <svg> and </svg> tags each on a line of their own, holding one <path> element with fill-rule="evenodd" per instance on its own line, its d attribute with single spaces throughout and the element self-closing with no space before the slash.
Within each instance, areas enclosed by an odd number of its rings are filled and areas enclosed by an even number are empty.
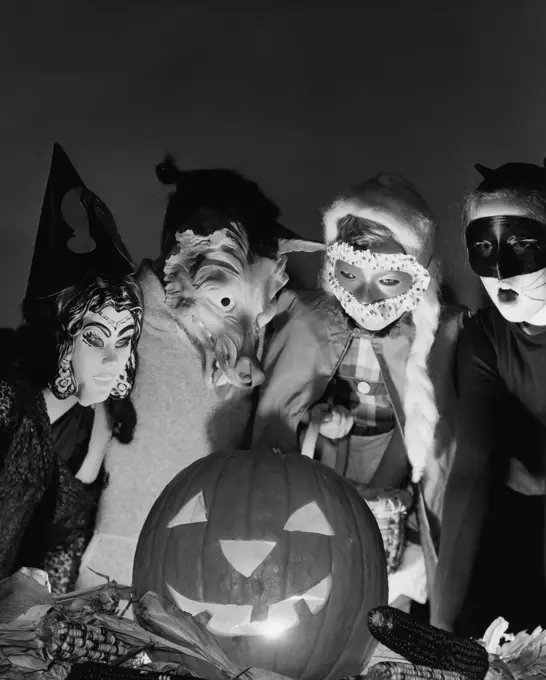
<svg viewBox="0 0 546 680">
<path fill-rule="evenodd" d="M 364 182 L 326 210 L 324 225 L 329 296 L 295 299 L 278 317 L 254 439 L 295 450 L 310 414 L 322 412 L 323 463 L 370 488 L 413 481 L 420 538 L 390 591 L 391 601 L 424 602 L 453 450 L 461 312 L 440 303 L 435 224 L 403 178 Z"/>
</svg>

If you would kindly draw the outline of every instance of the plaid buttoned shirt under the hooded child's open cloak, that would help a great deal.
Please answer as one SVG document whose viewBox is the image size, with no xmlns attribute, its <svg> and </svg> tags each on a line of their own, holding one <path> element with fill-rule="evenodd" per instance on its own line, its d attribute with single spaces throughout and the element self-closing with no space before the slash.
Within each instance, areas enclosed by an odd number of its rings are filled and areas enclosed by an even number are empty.
<svg viewBox="0 0 546 680">
<path fill-rule="evenodd" d="M 379 434 L 394 428 L 391 400 L 367 336 L 354 336 L 328 393 L 352 412 L 353 434 Z"/>
</svg>

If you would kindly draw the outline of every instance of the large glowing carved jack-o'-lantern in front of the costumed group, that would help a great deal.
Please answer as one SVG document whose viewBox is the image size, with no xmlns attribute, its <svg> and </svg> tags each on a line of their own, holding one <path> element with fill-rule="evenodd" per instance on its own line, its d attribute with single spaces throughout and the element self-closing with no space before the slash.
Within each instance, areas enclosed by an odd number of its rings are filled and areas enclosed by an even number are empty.
<svg viewBox="0 0 546 680">
<path fill-rule="evenodd" d="M 133 586 L 192 614 L 243 666 L 301 680 L 362 670 L 387 600 L 381 534 L 333 470 L 299 454 L 219 452 L 180 472 L 140 534 Z"/>
</svg>

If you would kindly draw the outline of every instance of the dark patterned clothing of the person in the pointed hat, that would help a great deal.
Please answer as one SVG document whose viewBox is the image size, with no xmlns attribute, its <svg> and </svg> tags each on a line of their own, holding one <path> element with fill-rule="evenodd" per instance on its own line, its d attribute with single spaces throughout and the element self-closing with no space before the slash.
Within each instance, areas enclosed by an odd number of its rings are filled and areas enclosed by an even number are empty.
<svg viewBox="0 0 546 680">
<path fill-rule="evenodd" d="M 104 469 L 75 476 L 89 447 L 94 411 L 77 404 L 52 426 L 43 390 L 17 356 L 17 333 L 0 331 L 0 578 L 44 569 L 54 592 L 73 589 L 93 533 Z"/>
</svg>

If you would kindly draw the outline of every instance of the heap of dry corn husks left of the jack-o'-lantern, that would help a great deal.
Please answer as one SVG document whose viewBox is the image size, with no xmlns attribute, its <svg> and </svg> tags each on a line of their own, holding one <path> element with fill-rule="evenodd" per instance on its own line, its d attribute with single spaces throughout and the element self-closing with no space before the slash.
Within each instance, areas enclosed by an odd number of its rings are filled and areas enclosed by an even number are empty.
<svg viewBox="0 0 546 680">
<path fill-rule="evenodd" d="M 131 588 L 114 581 L 68 595 L 51 596 L 47 584 L 32 575 L 15 574 L 4 583 L 0 610 L 0 677 L 8 680 L 65 680 L 70 665 L 48 650 L 49 627 L 59 619 L 103 625 L 126 647 L 124 665 L 148 670 L 194 675 L 203 680 L 287 680 L 276 673 L 241 668 L 219 647 L 210 633 L 192 616 L 171 606 L 155 593 L 135 603 L 140 623 L 123 616 L 121 606 L 131 600 Z M 163 653 L 150 661 L 147 654 Z M 135 664 L 141 659 L 140 664 Z"/>
</svg>

